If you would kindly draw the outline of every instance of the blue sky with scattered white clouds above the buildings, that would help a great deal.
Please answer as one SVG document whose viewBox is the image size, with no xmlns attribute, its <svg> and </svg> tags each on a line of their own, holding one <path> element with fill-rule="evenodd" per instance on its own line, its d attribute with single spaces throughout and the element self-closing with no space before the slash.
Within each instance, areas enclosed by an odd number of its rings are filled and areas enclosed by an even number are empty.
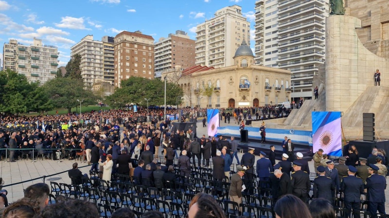
<svg viewBox="0 0 389 218">
<path fill-rule="evenodd" d="M 255 0 L 0 0 L 0 42 L 17 39 L 30 45 L 33 38 L 57 46 L 59 66 L 70 59 L 70 47 L 84 36 L 95 40 L 121 31 L 142 31 L 155 41 L 176 30 L 195 39 L 195 26 L 223 7 L 242 6 L 251 22 L 254 47 Z M 2 59 L 2 47 L 0 49 Z M 2 60 L 1 60 L 2 63 Z"/>
</svg>

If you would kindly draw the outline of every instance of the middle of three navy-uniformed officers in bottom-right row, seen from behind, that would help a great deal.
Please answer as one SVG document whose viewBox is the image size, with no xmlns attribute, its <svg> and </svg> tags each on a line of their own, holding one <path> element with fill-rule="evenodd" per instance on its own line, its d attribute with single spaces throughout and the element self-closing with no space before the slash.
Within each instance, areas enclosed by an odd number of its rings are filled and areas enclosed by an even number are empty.
<svg viewBox="0 0 389 218">
<path fill-rule="evenodd" d="M 344 206 L 351 211 L 353 208 L 354 218 L 360 218 L 359 213 L 355 213 L 356 210 L 361 208 L 361 192 L 363 192 L 362 179 L 355 176 L 356 168 L 349 166 L 348 176 L 344 176 L 342 183 L 340 184 L 340 190 L 343 192 Z M 347 217 L 350 217 L 350 213 L 346 212 Z"/>
</svg>

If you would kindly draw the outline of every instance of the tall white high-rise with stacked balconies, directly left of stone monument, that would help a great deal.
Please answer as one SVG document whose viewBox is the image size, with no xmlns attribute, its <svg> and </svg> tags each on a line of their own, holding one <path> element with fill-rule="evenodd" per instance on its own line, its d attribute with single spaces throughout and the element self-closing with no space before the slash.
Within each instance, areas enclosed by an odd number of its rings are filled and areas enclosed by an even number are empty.
<svg viewBox="0 0 389 218">
<path fill-rule="evenodd" d="M 257 0 L 255 8 L 256 63 L 290 70 L 291 84 L 285 88 L 291 89 L 291 100 L 310 99 L 313 76 L 325 60 L 328 0 Z"/>
</svg>

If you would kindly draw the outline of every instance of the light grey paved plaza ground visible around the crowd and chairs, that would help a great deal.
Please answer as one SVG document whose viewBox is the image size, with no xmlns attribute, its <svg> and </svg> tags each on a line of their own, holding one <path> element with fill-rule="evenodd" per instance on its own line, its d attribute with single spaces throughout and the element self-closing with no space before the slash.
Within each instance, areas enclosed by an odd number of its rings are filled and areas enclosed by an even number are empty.
<svg viewBox="0 0 389 218">
<path fill-rule="evenodd" d="M 220 123 L 221 126 L 225 126 L 224 121 Z M 233 119 L 230 122 L 230 125 L 233 124 Z M 198 122 L 197 125 L 197 136 L 201 136 L 203 134 L 207 135 L 207 129 L 206 127 L 202 127 L 202 123 Z M 242 157 L 243 154 L 238 154 L 239 158 Z M 259 159 L 259 156 L 255 157 L 256 160 Z M 78 166 L 83 167 L 86 166 L 87 163 L 81 163 L 80 160 L 77 161 Z M 278 160 L 277 160 L 278 162 Z M 62 162 L 57 162 L 54 160 L 36 160 L 36 162 L 31 162 L 31 160 L 18 160 L 15 163 L 9 163 L 1 161 L 1 171 L 0 176 L 4 180 L 4 185 L 9 185 L 13 183 L 18 183 L 21 181 L 26 181 L 34 178 L 38 178 L 44 175 L 50 175 L 55 174 L 62 171 L 67 171 L 71 169 L 71 165 L 74 163 L 74 160 L 62 160 Z M 233 164 L 236 164 L 236 159 L 233 159 Z M 309 169 L 311 172 L 314 171 L 314 162 L 313 160 L 308 162 L 309 163 Z M 80 170 L 83 173 L 88 173 L 90 167 L 84 167 L 80 168 Z M 50 179 L 55 179 L 54 182 L 56 183 L 66 183 L 71 184 L 71 180 L 68 176 L 68 172 L 64 172 L 52 177 L 46 177 L 46 183 L 50 185 Z M 8 201 L 9 202 L 15 202 L 16 200 L 23 197 L 23 189 L 26 187 L 35 184 L 35 183 L 41 183 L 43 182 L 42 179 L 34 180 L 31 182 L 22 183 L 19 185 L 14 185 L 11 187 L 4 187 L 8 191 Z M 387 178 L 388 183 L 388 178 Z M 385 190 L 386 199 L 389 199 L 389 188 Z M 389 212 L 389 201 L 386 202 L 386 211 Z"/>
</svg>

